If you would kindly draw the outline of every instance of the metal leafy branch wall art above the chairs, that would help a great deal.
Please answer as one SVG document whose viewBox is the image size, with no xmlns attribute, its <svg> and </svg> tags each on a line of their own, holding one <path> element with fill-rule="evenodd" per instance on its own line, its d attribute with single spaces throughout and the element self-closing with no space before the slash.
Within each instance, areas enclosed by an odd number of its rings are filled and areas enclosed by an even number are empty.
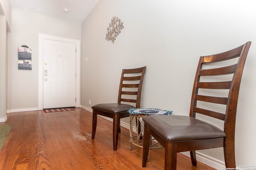
<svg viewBox="0 0 256 170">
<path fill-rule="evenodd" d="M 109 27 L 107 28 L 108 33 L 106 33 L 106 39 L 108 41 L 112 41 L 113 44 L 116 40 L 117 35 L 121 33 L 121 30 L 124 29 L 123 22 L 118 17 L 113 17 L 111 23 L 109 23 Z"/>
</svg>

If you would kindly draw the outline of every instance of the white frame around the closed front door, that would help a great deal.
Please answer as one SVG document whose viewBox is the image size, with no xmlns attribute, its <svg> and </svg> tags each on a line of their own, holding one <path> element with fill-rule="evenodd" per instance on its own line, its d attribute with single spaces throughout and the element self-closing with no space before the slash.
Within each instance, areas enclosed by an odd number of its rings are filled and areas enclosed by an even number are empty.
<svg viewBox="0 0 256 170">
<path fill-rule="evenodd" d="M 76 44 L 76 107 L 80 107 L 80 40 L 38 33 L 38 110 L 43 109 L 44 39 Z"/>
</svg>

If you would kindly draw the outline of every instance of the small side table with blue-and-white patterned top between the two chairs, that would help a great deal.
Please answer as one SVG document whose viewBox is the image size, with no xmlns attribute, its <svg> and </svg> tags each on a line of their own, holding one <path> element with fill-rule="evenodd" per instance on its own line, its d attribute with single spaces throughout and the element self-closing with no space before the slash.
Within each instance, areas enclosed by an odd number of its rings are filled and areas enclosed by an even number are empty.
<svg viewBox="0 0 256 170">
<path fill-rule="evenodd" d="M 168 110 L 161 110 L 157 108 L 132 108 L 128 110 L 130 113 L 130 150 L 132 150 L 132 144 L 143 147 L 143 131 L 144 131 L 144 123 L 142 121 L 142 117 L 147 115 L 171 115 L 172 111 Z M 133 127 L 132 127 L 132 120 L 135 118 L 136 120 L 136 135 L 133 136 Z M 162 148 L 162 146 L 157 142 L 152 141 L 154 140 L 153 137 L 150 137 L 150 149 Z"/>
</svg>

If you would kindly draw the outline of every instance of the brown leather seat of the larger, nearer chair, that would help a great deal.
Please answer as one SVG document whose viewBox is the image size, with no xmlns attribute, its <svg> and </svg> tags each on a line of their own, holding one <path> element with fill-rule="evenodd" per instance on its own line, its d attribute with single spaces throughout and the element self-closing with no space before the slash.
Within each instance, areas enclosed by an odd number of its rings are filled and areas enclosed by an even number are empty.
<svg viewBox="0 0 256 170">
<path fill-rule="evenodd" d="M 150 115 L 143 117 L 143 121 L 154 127 L 155 132 L 168 142 L 226 137 L 218 127 L 194 117 Z"/>
</svg>

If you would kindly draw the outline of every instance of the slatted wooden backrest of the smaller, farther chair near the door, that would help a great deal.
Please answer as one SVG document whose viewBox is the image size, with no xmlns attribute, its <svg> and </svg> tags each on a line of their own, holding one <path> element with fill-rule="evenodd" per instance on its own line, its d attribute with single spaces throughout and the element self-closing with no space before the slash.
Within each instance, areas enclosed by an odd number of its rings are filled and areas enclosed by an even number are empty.
<svg viewBox="0 0 256 170">
<path fill-rule="evenodd" d="M 119 92 L 118 103 L 130 102 L 136 103 L 136 107 L 140 107 L 140 98 L 142 92 L 142 83 L 146 66 L 134 69 L 123 69 Z"/>
</svg>

